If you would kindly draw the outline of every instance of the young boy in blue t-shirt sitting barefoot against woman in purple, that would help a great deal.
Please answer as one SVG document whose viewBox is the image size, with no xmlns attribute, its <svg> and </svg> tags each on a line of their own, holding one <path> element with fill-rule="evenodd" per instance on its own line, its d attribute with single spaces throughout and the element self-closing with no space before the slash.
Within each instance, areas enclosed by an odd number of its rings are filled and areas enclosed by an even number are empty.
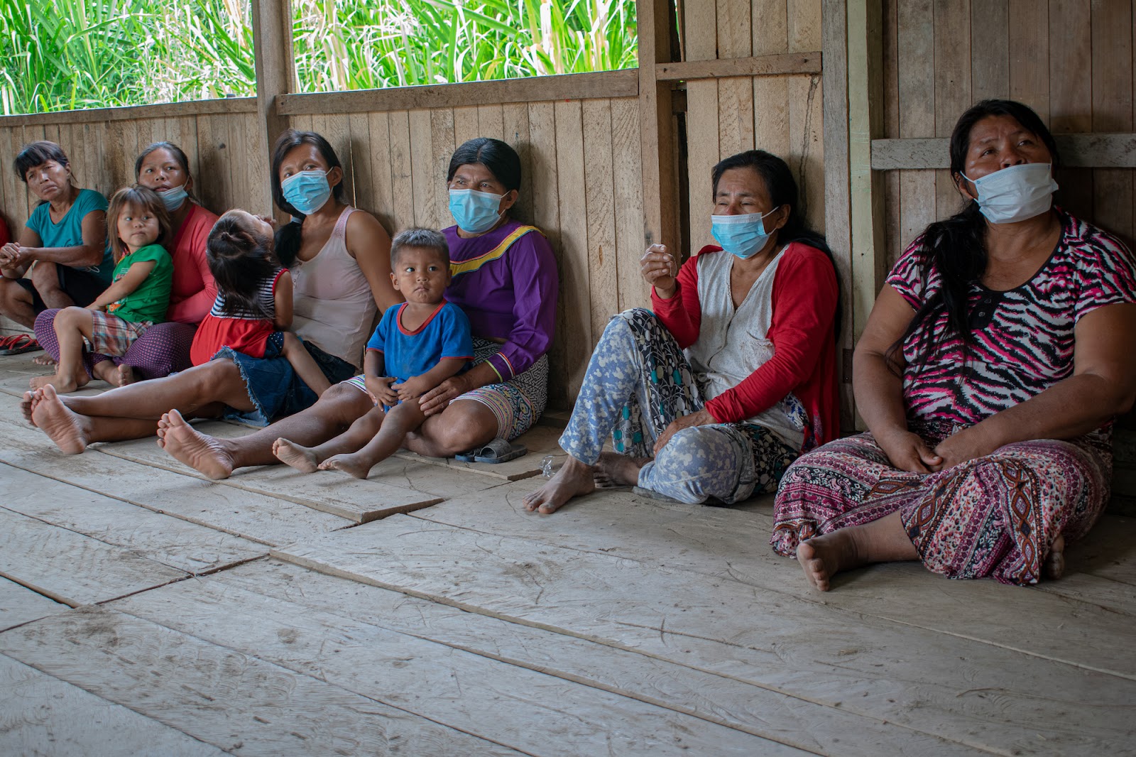
<svg viewBox="0 0 1136 757">
<path fill-rule="evenodd" d="M 375 408 L 317 447 L 277 439 L 273 454 L 282 463 L 308 473 L 335 469 L 366 479 L 426 419 L 418 398 L 473 360 L 469 319 L 442 297 L 450 285 L 445 238 L 428 228 L 396 234 L 391 269 L 391 283 L 407 301 L 383 314 L 367 342 L 364 375 L 349 380 L 370 394 Z"/>
</svg>

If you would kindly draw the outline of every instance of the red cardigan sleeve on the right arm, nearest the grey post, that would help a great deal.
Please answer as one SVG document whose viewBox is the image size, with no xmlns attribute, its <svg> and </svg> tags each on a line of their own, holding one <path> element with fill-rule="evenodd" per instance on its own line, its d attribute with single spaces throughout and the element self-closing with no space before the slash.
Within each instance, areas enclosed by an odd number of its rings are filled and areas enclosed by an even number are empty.
<svg viewBox="0 0 1136 757">
<path fill-rule="evenodd" d="M 719 423 L 752 417 L 809 380 L 828 344 L 836 316 L 836 272 L 828 257 L 794 243 L 774 277 L 772 323 L 767 338 L 774 356 L 737 386 L 707 402 Z"/>
</svg>

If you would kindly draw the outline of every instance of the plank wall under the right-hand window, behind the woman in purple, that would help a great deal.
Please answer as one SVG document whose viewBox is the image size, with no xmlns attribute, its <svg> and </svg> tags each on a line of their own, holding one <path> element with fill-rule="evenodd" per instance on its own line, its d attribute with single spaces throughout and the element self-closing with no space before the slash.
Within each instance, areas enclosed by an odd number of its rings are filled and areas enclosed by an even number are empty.
<svg viewBox="0 0 1136 757">
<path fill-rule="evenodd" d="M 643 200 L 638 100 L 601 98 L 458 108 L 291 116 L 327 136 L 352 202 L 392 233 L 453 224 L 445 173 L 475 136 L 510 143 L 523 186 L 515 216 L 545 232 L 557 256 L 560 300 L 550 360 L 550 401 L 571 405 L 608 318 L 648 303 L 638 276 Z"/>
</svg>

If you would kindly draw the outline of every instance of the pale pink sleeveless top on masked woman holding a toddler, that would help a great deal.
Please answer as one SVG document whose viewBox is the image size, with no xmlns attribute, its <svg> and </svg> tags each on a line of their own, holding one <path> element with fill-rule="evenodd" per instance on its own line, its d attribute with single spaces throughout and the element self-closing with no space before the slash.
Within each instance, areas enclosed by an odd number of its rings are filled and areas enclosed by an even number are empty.
<svg viewBox="0 0 1136 757">
<path fill-rule="evenodd" d="M 370 284 L 351 253 L 345 234 L 354 208 L 346 207 L 311 260 L 292 267 L 295 333 L 328 355 L 362 367 L 362 348 L 378 307 Z"/>
</svg>

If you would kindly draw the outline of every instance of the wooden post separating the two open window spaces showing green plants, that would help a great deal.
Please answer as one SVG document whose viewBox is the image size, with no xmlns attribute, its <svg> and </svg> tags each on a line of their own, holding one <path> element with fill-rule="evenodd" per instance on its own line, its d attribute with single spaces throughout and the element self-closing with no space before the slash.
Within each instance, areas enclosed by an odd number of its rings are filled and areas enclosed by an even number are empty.
<svg viewBox="0 0 1136 757">
<path fill-rule="evenodd" d="M 250 145 L 272 165 L 273 143 L 287 128 L 287 118 L 277 111 L 277 97 L 295 91 L 292 60 L 292 7 L 289 0 L 252 0 L 252 50 L 257 70 L 257 144 Z M 264 208 L 273 214 L 272 199 Z M 284 216 L 281 217 L 284 219 Z"/>
</svg>

